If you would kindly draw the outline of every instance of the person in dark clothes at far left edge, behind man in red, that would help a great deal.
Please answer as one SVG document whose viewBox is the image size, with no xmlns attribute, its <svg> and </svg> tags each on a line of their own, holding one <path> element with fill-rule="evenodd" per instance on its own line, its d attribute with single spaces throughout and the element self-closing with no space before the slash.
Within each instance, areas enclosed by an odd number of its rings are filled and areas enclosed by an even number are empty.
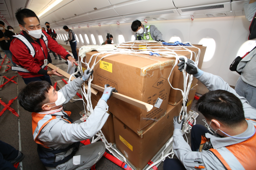
<svg viewBox="0 0 256 170">
<path fill-rule="evenodd" d="M 7 55 L 7 57 L 11 60 L 13 66 L 16 66 L 16 64 L 12 60 L 12 52 L 9 50 L 10 43 L 11 43 L 11 36 L 15 35 L 13 32 L 6 30 L 5 25 L 3 21 L 0 21 L 0 48 L 3 52 Z"/>
</svg>

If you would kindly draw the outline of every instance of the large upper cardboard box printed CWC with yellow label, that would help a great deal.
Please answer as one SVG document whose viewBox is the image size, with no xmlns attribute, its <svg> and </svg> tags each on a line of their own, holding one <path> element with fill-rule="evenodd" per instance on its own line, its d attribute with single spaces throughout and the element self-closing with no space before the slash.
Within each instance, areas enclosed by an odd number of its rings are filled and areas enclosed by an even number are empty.
<svg viewBox="0 0 256 170">
<path fill-rule="evenodd" d="M 86 53 L 87 63 L 95 53 L 98 52 L 92 51 Z M 105 55 L 98 55 L 97 61 Z M 93 56 L 90 68 L 95 58 L 96 55 Z M 116 87 L 120 94 L 152 105 L 155 105 L 156 102 L 160 105 L 159 108 L 154 107 L 151 111 L 147 112 L 132 104 L 118 100 L 113 96 L 109 99 L 107 102 L 109 111 L 140 135 L 166 113 L 171 88 L 167 79 L 171 73 L 173 64 L 173 59 L 164 57 L 146 54 L 115 54 L 102 59 L 94 67 L 92 84 L 102 87 L 105 84 L 109 84 Z M 82 67 L 85 68 L 85 65 L 82 65 Z M 172 75 L 170 82 L 172 82 Z M 96 101 L 101 96 L 102 92 L 98 92 L 97 96 L 92 95 Z M 158 98 L 163 100 L 161 104 Z"/>
</svg>

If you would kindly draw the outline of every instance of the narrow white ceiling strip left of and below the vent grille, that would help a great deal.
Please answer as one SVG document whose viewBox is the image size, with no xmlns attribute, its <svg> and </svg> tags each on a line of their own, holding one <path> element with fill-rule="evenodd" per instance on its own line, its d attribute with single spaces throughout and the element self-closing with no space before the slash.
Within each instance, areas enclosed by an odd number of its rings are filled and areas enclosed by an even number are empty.
<svg viewBox="0 0 256 170">
<path fill-rule="evenodd" d="M 176 9 L 170 10 L 163 10 L 163 11 L 156 11 L 150 13 L 142 13 L 142 14 L 134 14 L 134 15 L 127 15 L 123 16 L 126 20 L 130 19 L 144 19 L 144 18 L 156 18 L 156 17 L 172 17 L 172 16 L 179 16 L 179 13 Z"/>
</svg>

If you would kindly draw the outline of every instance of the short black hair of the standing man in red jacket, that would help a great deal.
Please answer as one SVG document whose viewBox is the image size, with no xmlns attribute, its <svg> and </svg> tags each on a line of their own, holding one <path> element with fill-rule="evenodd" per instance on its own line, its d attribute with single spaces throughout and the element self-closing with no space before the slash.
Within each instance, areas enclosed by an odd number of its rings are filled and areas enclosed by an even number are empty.
<svg viewBox="0 0 256 170">
<path fill-rule="evenodd" d="M 26 23 L 24 22 L 25 17 L 37 17 L 36 13 L 30 9 L 24 8 L 24 9 L 18 9 L 15 13 L 16 19 L 18 20 L 19 24 L 24 26 Z M 40 20 L 38 18 L 38 21 L 40 23 Z"/>
</svg>

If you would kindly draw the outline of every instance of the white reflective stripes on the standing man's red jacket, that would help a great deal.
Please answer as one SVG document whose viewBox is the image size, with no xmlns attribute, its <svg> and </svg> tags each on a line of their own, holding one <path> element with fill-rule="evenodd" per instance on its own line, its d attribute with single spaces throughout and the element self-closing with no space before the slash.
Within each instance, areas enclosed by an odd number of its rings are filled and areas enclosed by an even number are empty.
<svg viewBox="0 0 256 170">
<path fill-rule="evenodd" d="M 44 33 L 42 33 L 43 35 L 43 41 L 46 45 L 46 48 L 48 46 L 48 39 L 46 37 L 46 35 Z M 16 37 L 17 39 L 19 39 L 28 49 L 28 52 L 32 55 L 32 57 L 35 57 L 35 49 L 33 47 L 33 45 L 28 42 L 28 40 L 25 38 L 24 35 L 22 34 L 18 34 L 18 35 L 13 35 L 14 37 Z M 19 71 L 19 72 L 30 72 L 28 69 L 26 68 L 22 68 L 21 66 L 17 65 L 17 66 L 12 66 L 11 67 L 13 71 Z M 45 68 L 44 64 L 41 66 L 41 68 Z"/>
</svg>

